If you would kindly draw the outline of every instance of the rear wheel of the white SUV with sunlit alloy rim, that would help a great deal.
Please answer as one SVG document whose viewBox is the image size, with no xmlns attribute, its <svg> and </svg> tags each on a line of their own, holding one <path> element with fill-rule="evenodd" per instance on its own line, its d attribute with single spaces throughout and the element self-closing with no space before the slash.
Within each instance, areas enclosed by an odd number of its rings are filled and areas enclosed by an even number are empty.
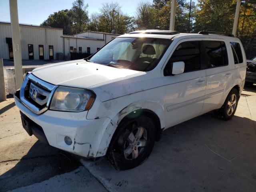
<svg viewBox="0 0 256 192">
<path fill-rule="evenodd" d="M 222 107 L 215 111 L 214 114 L 221 120 L 230 120 L 236 112 L 238 100 L 238 91 L 237 89 L 233 88 L 229 92 Z"/>
</svg>

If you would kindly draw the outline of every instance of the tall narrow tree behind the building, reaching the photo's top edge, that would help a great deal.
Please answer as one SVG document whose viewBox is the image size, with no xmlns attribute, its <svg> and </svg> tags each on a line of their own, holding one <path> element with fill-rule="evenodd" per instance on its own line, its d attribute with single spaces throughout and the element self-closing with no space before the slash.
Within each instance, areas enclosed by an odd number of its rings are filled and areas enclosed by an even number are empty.
<svg viewBox="0 0 256 192">
<path fill-rule="evenodd" d="M 88 4 L 85 4 L 84 0 L 75 0 L 72 5 L 70 10 L 73 22 L 72 32 L 76 34 L 85 31 L 88 27 Z"/>
</svg>

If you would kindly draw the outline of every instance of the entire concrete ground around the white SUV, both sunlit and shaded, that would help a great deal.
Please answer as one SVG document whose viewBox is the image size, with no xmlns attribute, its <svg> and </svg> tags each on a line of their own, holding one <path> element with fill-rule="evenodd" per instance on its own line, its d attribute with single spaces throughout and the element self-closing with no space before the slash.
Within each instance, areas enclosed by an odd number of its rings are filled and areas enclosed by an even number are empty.
<svg viewBox="0 0 256 192">
<path fill-rule="evenodd" d="M 230 121 L 202 115 L 164 132 L 132 170 L 80 160 L 28 136 L 13 99 L 0 103 L 0 191 L 254 192 L 256 86 L 243 91 Z M 88 172 L 89 171 L 89 172 Z"/>
</svg>

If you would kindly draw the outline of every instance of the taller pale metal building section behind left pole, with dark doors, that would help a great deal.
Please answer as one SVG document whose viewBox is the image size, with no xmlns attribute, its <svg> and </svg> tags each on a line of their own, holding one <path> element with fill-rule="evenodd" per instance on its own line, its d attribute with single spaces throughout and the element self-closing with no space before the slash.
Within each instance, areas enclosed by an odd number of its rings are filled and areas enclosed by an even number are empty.
<svg viewBox="0 0 256 192">
<path fill-rule="evenodd" d="M 56 53 L 63 53 L 62 34 L 61 28 L 20 24 L 22 59 L 56 59 Z M 10 22 L 0 22 L 0 58 L 13 58 Z"/>
</svg>

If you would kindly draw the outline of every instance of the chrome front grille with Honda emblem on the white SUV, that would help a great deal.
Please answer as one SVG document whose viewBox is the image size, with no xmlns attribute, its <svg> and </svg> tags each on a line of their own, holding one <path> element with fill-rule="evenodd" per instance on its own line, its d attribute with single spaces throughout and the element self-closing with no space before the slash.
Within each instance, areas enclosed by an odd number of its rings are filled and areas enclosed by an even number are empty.
<svg viewBox="0 0 256 192">
<path fill-rule="evenodd" d="M 20 100 L 34 113 L 42 114 L 48 109 L 56 88 L 57 86 L 29 74 L 20 88 Z"/>
</svg>

